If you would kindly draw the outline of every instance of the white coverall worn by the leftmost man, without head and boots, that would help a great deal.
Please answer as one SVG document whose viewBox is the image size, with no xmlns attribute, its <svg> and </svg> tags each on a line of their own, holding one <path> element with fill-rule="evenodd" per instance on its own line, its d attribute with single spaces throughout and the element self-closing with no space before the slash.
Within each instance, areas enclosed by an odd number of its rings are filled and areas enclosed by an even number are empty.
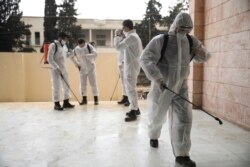
<svg viewBox="0 0 250 167">
<path fill-rule="evenodd" d="M 57 45 L 57 46 L 55 46 Z M 61 84 L 64 90 L 64 100 L 70 98 L 70 90 L 69 90 L 69 79 L 68 73 L 65 68 L 65 50 L 64 45 L 62 45 L 59 41 L 55 40 L 53 43 L 49 45 L 48 51 L 48 62 L 51 65 L 51 80 L 52 80 L 52 96 L 54 102 L 60 101 L 60 92 L 61 92 Z M 56 49 L 57 48 L 57 49 Z M 64 80 L 60 76 L 58 70 L 61 71 Z"/>
</svg>

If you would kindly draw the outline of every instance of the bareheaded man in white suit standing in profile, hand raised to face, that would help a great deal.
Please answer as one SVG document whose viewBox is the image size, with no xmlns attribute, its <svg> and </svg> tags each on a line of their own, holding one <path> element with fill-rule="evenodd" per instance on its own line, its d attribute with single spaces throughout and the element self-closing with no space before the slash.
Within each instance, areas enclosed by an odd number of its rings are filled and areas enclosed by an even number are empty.
<svg viewBox="0 0 250 167">
<path fill-rule="evenodd" d="M 125 38 L 115 37 L 115 47 L 117 50 L 124 50 L 124 80 L 125 90 L 129 100 L 130 111 L 126 113 L 125 121 L 134 121 L 140 115 L 138 99 L 136 93 L 137 77 L 140 72 L 139 58 L 142 53 L 142 42 L 131 20 L 124 20 L 123 32 Z"/>
</svg>

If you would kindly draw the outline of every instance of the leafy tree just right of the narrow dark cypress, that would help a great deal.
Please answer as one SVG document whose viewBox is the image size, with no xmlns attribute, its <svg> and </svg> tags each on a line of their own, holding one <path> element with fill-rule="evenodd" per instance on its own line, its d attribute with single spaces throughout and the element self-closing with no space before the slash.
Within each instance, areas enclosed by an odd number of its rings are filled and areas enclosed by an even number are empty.
<svg viewBox="0 0 250 167">
<path fill-rule="evenodd" d="M 77 44 L 78 37 L 81 36 L 81 26 L 76 25 L 77 9 L 74 8 L 76 0 L 64 0 L 60 5 L 60 12 L 58 18 L 58 31 L 68 33 L 69 48 L 73 48 Z"/>
</svg>

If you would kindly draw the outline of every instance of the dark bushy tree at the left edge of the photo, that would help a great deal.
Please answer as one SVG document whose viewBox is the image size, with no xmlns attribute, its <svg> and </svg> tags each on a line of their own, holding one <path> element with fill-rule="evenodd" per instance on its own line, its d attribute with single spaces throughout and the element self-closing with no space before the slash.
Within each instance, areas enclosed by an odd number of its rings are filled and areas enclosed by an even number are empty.
<svg viewBox="0 0 250 167">
<path fill-rule="evenodd" d="M 21 38 L 30 35 L 29 28 L 19 11 L 20 0 L 0 0 L 0 51 L 11 52 L 13 48 L 22 49 L 25 41 Z"/>
</svg>

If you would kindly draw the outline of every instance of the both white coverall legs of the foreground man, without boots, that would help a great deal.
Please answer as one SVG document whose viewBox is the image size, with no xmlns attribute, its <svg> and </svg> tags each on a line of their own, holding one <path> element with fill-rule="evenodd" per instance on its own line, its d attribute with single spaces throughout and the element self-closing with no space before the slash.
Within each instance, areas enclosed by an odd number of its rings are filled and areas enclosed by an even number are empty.
<svg viewBox="0 0 250 167">
<path fill-rule="evenodd" d="M 156 84 L 156 83 L 154 83 Z M 161 134 L 162 125 L 166 121 L 166 114 L 169 111 L 169 129 L 171 144 L 175 156 L 188 156 L 191 141 L 190 132 L 192 125 L 191 106 L 178 96 L 175 96 L 168 90 L 165 90 L 164 109 L 159 108 L 159 99 L 163 96 L 157 85 L 152 86 L 152 91 L 148 95 L 149 110 L 149 138 L 158 139 Z M 188 90 L 186 82 L 180 90 L 180 95 L 188 99 Z M 153 98 L 158 97 L 158 98 Z M 168 110 L 169 108 L 169 110 Z"/>
</svg>

